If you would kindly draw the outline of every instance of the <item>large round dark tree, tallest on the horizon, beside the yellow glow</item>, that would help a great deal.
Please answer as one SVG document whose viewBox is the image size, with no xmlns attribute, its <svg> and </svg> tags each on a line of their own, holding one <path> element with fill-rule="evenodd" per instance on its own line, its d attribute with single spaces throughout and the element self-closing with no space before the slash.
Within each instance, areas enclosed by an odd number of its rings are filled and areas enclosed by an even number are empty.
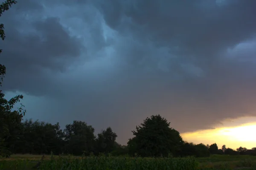
<svg viewBox="0 0 256 170">
<path fill-rule="evenodd" d="M 137 153 L 143 157 L 176 156 L 183 144 L 180 133 L 169 127 L 170 122 L 160 115 L 146 118 L 136 130 L 132 131 L 133 139 L 129 139 L 130 153 Z"/>
</svg>

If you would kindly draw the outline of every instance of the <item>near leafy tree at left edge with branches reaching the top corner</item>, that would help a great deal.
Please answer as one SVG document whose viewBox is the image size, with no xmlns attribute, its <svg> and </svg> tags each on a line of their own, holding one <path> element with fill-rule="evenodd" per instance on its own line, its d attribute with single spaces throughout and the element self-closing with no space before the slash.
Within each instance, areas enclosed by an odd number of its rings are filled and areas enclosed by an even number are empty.
<svg viewBox="0 0 256 170">
<path fill-rule="evenodd" d="M 0 5 L 0 16 L 4 11 L 9 10 L 13 4 L 17 3 L 15 0 L 6 0 Z M 4 25 L 0 24 L 0 37 L 5 39 Z M 0 50 L 0 53 L 2 50 Z M 2 86 L 3 77 L 6 74 L 6 67 L 0 64 L 0 86 Z M 20 99 L 23 99 L 22 95 L 18 95 L 10 99 L 9 101 L 4 98 L 3 92 L 0 90 L 0 156 L 9 156 L 11 154 L 10 149 L 7 146 L 7 140 L 11 137 L 11 134 L 16 133 L 13 131 L 19 126 L 22 117 L 25 114 L 23 105 L 13 111 L 13 107 Z M 16 139 L 17 140 L 17 139 Z"/>
</svg>

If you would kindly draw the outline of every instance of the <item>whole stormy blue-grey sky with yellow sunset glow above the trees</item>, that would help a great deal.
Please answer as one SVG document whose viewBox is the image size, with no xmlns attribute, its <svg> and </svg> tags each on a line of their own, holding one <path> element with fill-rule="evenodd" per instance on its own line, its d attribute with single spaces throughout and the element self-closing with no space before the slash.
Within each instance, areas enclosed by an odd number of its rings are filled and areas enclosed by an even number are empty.
<svg viewBox="0 0 256 170">
<path fill-rule="evenodd" d="M 2 89 L 25 118 L 111 126 L 126 144 L 160 114 L 188 141 L 256 146 L 230 131 L 256 129 L 255 0 L 17 1 L 0 20 Z"/>
</svg>

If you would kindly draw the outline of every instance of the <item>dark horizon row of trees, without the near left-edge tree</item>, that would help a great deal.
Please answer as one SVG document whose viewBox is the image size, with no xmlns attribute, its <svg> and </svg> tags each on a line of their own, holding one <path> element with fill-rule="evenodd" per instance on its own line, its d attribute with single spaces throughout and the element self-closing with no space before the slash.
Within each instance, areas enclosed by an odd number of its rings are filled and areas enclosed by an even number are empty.
<svg viewBox="0 0 256 170">
<path fill-rule="evenodd" d="M 161 117 L 160 117 L 161 118 Z M 159 121 L 160 120 L 160 121 Z M 137 127 L 137 136 L 129 139 L 127 146 L 118 144 L 116 133 L 111 127 L 94 136 L 94 129 L 85 122 L 74 121 L 66 125 L 64 131 L 59 124 L 52 125 L 38 120 L 25 120 L 17 126 L 9 127 L 8 138 L 5 138 L 4 147 L 12 153 L 30 154 L 55 154 L 62 153 L 73 155 L 99 155 L 111 153 L 113 156 L 129 154 L 131 156 L 210 156 L 210 148 L 213 154 L 226 155 L 253 155 L 256 156 L 256 148 L 247 149 L 239 147 L 233 150 L 224 146 L 216 152 L 216 145 L 207 147 L 204 144 L 183 142 L 179 133 L 169 127 L 165 119 L 157 119 L 156 116 L 147 118 L 142 126 Z M 157 123 L 156 123 L 157 122 Z M 167 125 L 166 125 L 167 124 Z M 167 135 L 166 135 L 167 134 Z M 161 136 L 164 135 L 164 136 Z M 169 137 L 168 137 L 169 135 Z M 158 142 L 156 139 L 162 139 Z M 170 140 L 167 140 L 170 139 Z M 160 147 L 159 147 L 160 146 Z M 166 151 L 167 150 L 167 151 Z M 7 152 L 6 151 L 6 152 Z M 5 153 L 6 154 L 6 153 Z M 6 154 L 8 156 L 8 154 Z M 4 155 L 4 156 L 6 156 Z"/>
</svg>

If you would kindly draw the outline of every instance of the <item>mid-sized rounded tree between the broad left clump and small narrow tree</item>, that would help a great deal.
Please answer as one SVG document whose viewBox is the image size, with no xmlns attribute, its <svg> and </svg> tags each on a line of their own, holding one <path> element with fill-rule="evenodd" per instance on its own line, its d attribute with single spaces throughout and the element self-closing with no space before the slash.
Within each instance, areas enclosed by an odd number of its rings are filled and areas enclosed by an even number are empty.
<svg viewBox="0 0 256 170">
<path fill-rule="evenodd" d="M 94 128 L 82 121 L 74 121 L 66 125 L 65 142 L 66 152 L 74 155 L 89 155 L 94 150 Z"/>
</svg>

